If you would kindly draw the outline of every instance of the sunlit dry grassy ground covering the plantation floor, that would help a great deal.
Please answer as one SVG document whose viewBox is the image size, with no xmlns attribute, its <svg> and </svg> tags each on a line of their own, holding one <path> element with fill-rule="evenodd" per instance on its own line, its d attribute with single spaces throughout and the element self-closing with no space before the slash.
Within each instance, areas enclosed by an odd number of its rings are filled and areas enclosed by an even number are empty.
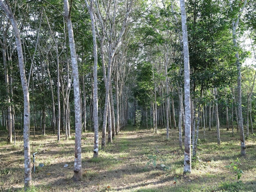
<svg viewBox="0 0 256 192">
<path fill-rule="evenodd" d="M 35 138 L 32 134 L 31 154 L 32 150 L 37 154 L 31 192 L 256 192 L 255 135 L 247 138 L 247 154 L 242 157 L 238 132 L 232 137 L 232 132 L 222 127 L 218 146 L 215 127 L 206 130 L 205 141 L 200 129 L 192 172 L 183 175 L 184 152 L 179 149 L 177 129 L 171 129 L 166 140 L 165 129 L 153 134 L 152 129 L 136 132 L 134 127 L 127 127 L 99 151 L 97 159 L 92 158 L 94 133 L 85 132 L 83 179 L 74 182 L 74 134 L 67 141 L 62 135 L 60 142 L 53 134 L 41 136 L 38 132 Z M 22 133 L 18 133 L 15 146 L 7 145 L 6 136 L 6 131 L 0 131 L 0 191 L 24 191 Z"/>
</svg>

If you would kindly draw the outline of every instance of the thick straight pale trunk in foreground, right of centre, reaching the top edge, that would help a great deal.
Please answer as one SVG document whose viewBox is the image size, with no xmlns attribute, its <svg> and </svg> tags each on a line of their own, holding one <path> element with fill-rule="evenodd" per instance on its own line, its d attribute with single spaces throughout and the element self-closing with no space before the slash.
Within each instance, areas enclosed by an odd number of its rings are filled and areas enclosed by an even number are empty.
<svg viewBox="0 0 256 192">
<path fill-rule="evenodd" d="M 184 0 L 180 0 L 183 56 L 184 56 L 184 103 L 185 103 L 185 138 L 184 138 L 184 170 L 191 173 L 191 106 L 190 106 L 190 67 L 189 67 L 189 41 L 186 27 L 186 8 Z"/>
</svg>

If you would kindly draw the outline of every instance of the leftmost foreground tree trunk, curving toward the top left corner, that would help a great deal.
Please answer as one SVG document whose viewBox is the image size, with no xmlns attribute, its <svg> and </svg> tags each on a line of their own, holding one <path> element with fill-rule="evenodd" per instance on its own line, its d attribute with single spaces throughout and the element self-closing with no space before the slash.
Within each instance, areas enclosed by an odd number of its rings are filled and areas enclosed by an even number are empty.
<svg viewBox="0 0 256 192">
<path fill-rule="evenodd" d="M 11 25 L 15 33 L 16 46 L 18 51 L 20 80 L 22 84 L 23 98 L 24 98 L 23 143 L 24 143 L 24 174 L 25 174 L 24 185 L 25 185 L 25 191 L 26 191 L 32 185 L 31 157 L 30 157 L 30 144 L 29 144 L 29 128 L 30 128 L 29 89 L 27 85 L 27 77 L 25 72 L 22 43 L 20 39 L 20 31 L 18 29 L 18 23 L 14 18 L 13 12 L 11 11 L 11 7 L 9 6 L 9 2 L 8 1 L 3 2 L 1 0 L 0 5 L 4 10 L 4 12 L 6 13 L 7 17 L 9 18 L 9 20 L 11 21 Z"/>
</svg>

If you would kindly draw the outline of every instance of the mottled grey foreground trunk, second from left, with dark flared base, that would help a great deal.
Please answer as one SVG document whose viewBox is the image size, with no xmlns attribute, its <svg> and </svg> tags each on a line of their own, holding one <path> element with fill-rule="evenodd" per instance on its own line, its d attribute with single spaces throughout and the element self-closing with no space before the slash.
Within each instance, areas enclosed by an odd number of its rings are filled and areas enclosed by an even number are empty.
<svg viewBox="0 0 256 192">
<path fill-rule="evenodd" d="M 68 39 L 70 45 L 70 54 L 72 62 L 73 86 L 74 86 L 74 105 L 75 105 L 75 159 L 74 159 L 74 181 L 81 180 L 82 161 L 81 161 L 81 136 L 82 136 L 82 118 L 81 118 L 81 96 L 79 87 L 79 72 L 76 58 L 76 46 L 74 41 L 73 26 L 70 18 L 70 7 L 68 0 L 64 0 L 65 19 L 67 21 Z"/>
</svg>

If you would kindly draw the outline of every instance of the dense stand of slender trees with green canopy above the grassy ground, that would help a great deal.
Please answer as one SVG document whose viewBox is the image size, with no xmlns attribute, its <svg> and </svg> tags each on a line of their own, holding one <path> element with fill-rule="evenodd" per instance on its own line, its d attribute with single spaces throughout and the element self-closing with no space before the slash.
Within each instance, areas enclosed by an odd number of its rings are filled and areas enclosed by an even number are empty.
<svg viewBox="0 0 256 192">
<path fill-rule="evenodd" d="M 47 129 L 58 141 L 63 134 L 68 139 L 75 127 L 78 135 L 80 129 L 94 131 L 94 157 L 106 140 L 111 143 L 126 125 L 135 125 L 136 111 L 142 126 L 155 133 L 165 127 L 167 139 L 169 129 L 178 127 L 185 153 L 183 128 L 185 134 L 190 130 L 193 155 L 200 127 L 216 126 L 218 145 L 220 125 L 233 133 L 237 128 L 245 154 L 244 134 L 253 133 L 256 118 L 256 70 L 254 62 L 245 62 L 256 59 L 256 3 L 187 0 L 186 21 L 183 3 L 1 1 L 0 125 L 8 130 L 8 142 L 15 142 L 17 130 L 26 130 L 27 96 L 28 131 L 45 135 Z M 182 23 L 187 28 L 188 65 Z M 184 109 L 191 115 L 189 126 Z M 79 145 L 78 140 L 78 154 Z"/>
</svg>

